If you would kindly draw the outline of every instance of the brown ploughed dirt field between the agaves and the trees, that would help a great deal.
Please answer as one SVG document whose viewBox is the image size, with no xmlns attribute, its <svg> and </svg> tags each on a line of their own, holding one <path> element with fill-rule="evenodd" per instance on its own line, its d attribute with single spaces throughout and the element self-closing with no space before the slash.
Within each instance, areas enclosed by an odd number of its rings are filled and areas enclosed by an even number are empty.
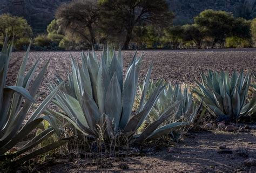
<svg viewBox="0 0 256 173">
<path fill-rule="evenodd" d="M 152 78 L 165 78 L 173 83 L 179 82 L 193 84 L 200 80 L 199 72 L 207 70 L 225 70 L 232 73 L 234 70 L 256 70 L 256 49 L 230 49 L 230 50 L 200 50 L 200 51 L 138 51 L 138 55 L 146 53 L 140 76 L 146 75 L 151 60 L 154 61 Z M 10 60 L 10 73 L 8 82 L 14 83 L 25 52 L 14 52 Z M 42 67 L 46 60 L 51 58 L 47 77 L 54 79 L 57 75 L 67 78 L 71 71 L 70 53 L 75 59 L 80 58 L 80 52 L 30 52 L 28 67 L 36 60 L 40 60 Z M 100 55 L 101 52 L 97 52 Z M 124 65 L 127 68 L 135 51 L 123 51 Z M 126 70 L 126 68 L 124 68 Z M 45 87 L 45 85 L 44 85 Z"/>
</svg>

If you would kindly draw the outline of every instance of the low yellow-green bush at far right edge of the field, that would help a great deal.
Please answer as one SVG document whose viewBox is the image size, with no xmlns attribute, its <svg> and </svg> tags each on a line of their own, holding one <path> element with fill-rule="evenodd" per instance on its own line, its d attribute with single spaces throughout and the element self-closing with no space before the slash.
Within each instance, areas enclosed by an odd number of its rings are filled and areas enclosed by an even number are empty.
<svg viewBox="0 0 256 173">
<path fill-rule="evenodd" d="M 252 40 L 239 38 L 239 37 L 228 37 L 226 38 L 226 47 L 230 47 L 230 48 L 252 47 Z"/>
</svg>

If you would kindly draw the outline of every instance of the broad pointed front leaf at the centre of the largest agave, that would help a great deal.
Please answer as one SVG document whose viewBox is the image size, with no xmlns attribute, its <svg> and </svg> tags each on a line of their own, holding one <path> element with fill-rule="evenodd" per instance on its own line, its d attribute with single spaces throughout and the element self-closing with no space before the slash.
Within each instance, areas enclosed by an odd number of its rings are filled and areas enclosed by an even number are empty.
<svg viewBox="0 0 256 173">
<path fill-rule="evenodd" d="M 107 88 L 105 113 L 110 117 L 110 120 L 114 121 L 116 128 L 119 127 L 120 116 L 122 113 L 122 93 L 116 73 L 114 73 L 109 88 Z"/>
</svg>

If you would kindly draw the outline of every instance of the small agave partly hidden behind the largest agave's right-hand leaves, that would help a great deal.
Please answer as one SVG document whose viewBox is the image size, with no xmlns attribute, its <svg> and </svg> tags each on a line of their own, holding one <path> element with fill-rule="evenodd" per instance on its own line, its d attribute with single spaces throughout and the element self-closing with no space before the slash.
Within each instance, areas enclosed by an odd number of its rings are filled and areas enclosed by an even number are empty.
<svg viewBox="0 0 256 173">
<path fill-rule="evenodd" d="M 146 98 L 149 98 L 152 95 L 153 91 L 161 84 L 161 80 L 157 82 L 150 81 L 149 89 L 146 94 Z M 167 82 L 165 82 L 167 83 Z M 137 99 L 139 99 L 142 94 L 142 86 L 140 86 Z M 169 107 L 175 102 L 180 102 L 176 111 L 172 112 L 172 115 L 169 116 L 160 125 L 160 129 L 163 130 L 163 134 L 169 134 L 174 141 L 178 141 L 188 130 L 191 124 L 193 124 L 196 119 L 197 114 L 201 109 L 202 102 L 197 106 L 197 102 L 193 99 L 192 93 L 188 92 L 188 87 L 185 86 L 184 91 L 182 91 L 181 86 L 176 84 L 172 86 L 170 83 L 166 85 L 164 91 L 160 94 L 155 106 L 152 108 L 147 122 L 151 123 L 159 119 Z M 139 109 L 142 108 L 142 102 L 140 102 Z M 173 126 L 177 124 L 176 128 L 171 128 L 170 130 L 166 127 Z M 159 133 L 159 136 L 161 134 Z"/>
</svg>

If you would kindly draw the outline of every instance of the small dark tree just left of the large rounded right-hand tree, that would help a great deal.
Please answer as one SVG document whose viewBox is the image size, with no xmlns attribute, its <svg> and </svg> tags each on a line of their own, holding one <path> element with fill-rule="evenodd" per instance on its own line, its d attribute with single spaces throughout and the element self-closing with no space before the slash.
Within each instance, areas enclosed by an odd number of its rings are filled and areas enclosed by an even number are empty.
<svg viewBox="0 0 256 173">
<path fill-rule="evenodd" d="M 197 45 L 197 49 L 201 49 L 205 33 L 197 24 L 187 24 L 183 25 L 182 37 L 184 41 L 193 41 Z"/>
</svg>

